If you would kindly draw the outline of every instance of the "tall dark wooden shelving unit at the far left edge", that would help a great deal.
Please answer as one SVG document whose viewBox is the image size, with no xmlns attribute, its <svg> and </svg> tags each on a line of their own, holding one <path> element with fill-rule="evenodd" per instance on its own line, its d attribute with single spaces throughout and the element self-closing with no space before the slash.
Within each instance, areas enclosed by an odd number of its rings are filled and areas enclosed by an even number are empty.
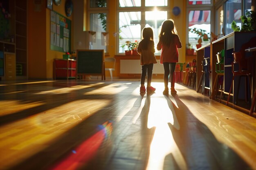
<svg viewBox="0 0 256 170">
<path fill-rule="evenodd" d="M 0 36 L 0 79 L 27 79 L 27 0 L 8 0 Z M 5 21 L 6 20 L 6 21 Z"/>
</svg>

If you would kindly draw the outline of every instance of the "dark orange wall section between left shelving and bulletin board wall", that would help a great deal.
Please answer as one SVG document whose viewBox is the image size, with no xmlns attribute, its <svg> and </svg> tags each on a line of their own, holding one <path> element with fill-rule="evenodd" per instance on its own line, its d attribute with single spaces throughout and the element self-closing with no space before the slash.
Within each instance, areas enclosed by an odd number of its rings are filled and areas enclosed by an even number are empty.
<svg viewBox="0 0 256 170">
<path fill-rule="evenodd" d="M 28 78 L 46 78 L 46 9 L 45 0 L 41 11 L 34 10 L 32 0 L 28 1 Z"/>
</svg>

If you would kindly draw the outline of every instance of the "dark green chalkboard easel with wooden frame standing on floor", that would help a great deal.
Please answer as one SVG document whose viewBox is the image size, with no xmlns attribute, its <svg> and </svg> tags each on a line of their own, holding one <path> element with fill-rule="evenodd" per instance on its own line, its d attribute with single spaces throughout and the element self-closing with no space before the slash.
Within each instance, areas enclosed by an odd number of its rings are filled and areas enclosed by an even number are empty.
<svg viewBox="0 0 256 170">
<path fill-rule="evenodd" d="M 104 50 L 76 50 L 76 79 L 84 75 L 105 77 Z"/>
</svg>

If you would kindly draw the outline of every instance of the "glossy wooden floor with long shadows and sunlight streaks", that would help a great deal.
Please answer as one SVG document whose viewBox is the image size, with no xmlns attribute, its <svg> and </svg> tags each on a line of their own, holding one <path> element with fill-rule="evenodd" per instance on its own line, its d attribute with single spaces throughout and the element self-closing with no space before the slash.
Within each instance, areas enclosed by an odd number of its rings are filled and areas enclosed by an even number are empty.
<svg viewBox="0 0 256 170">
<path fill-rule="evenodd" d="M 153 81 L 0 82 L 0 169 L 256 170 L 256 118 Z"/>
</svg>

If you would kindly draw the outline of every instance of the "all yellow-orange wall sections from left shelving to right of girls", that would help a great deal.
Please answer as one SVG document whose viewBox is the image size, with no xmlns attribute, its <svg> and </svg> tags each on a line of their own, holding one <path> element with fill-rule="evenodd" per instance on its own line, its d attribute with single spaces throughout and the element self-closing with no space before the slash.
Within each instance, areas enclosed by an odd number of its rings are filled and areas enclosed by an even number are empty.
<svg viewBox="0 0 256 170">
<path fill-rule="evenodd" d="M 50 10 L 46 8 L 46 0 L 42 0 L 42 8 L 40 12 L 34 11 L 34 1 L 28 0 L 28 78 L 29 79 L 52 79 L 53 78 L 53 61 L 54 58 L 62 58 L 64 53 L 50 50 Z M 108 11 L 108 32 L 110 35 L 117 32 L 117 0 L 109 1 Z M 76 3 L 73 0 L 73 3 Z M 186 1 L 171 1 L 170 0 L 170 16 L 174 20 L 177 27 L 178 35 L 182 42 L 182 49 L 179 50 L 180 62 L 186 61 Z M 180 7 L 181 13 L 178 16 L 173 15 L 173 7 Z M 53 3 L 53 10 L 65 15 L 65 0 L 62 0 L 59 6 Z M 75 9 L 74 9 L 75 10 Z M 86 16 L 86 15 L 85 15 Z M 83 17 L 83 16 L 81 16 Z M 67 17 L 73 21 L 73 15 Z M 85 18 L 86 20 L 86 18 Z M 182 21 L 182 22 L 180 22 Z M 72 39 L 73 39 L 72 22 Z M 73 40 L 72 40 L 73 42 Z M 109 56 L 115 56 L 116 39 L 114 36 L 109 36 Z M 73 44 L 72 44 L 73 49 Z M 108 56 L 106 56 L 108 57 Z M 113 73 L 114 77 L 119 77 L 118 73 Z M 108 76 L 108 73 L 107 75 Z"/>
</svg>

